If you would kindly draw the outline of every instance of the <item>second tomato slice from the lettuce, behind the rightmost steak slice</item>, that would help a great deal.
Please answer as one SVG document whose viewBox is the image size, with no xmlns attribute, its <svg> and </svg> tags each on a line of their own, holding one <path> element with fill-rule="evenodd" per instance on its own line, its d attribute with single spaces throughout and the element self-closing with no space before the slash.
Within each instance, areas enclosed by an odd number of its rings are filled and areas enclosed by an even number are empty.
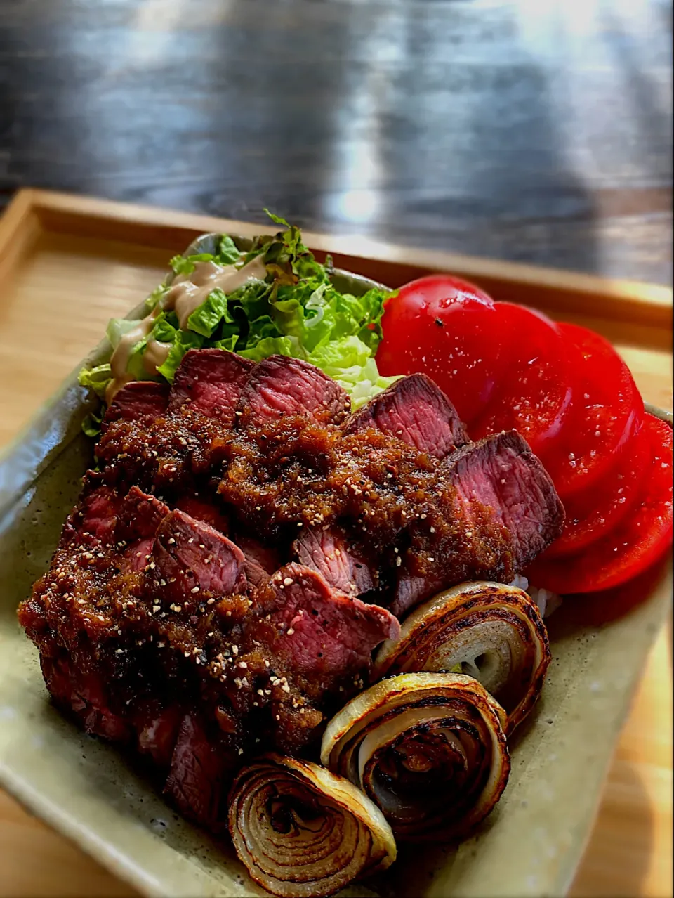
<svg viewBox="0 0 674 898">
<path fill-rule="evenodd" d="M 554 321 L 522 305 L 496 303 L 497 327 L 508 334 L 508 368 L 470 436 L 518 430 L 540 454 L 564 426 L 573 403 L 573 366 Z"/>
</svg>

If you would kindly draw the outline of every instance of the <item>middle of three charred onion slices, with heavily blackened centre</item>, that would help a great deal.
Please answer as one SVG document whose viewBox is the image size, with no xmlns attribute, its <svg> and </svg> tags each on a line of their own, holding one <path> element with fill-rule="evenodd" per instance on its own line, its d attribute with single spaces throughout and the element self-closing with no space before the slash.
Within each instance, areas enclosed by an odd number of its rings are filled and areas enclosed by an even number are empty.
<svg viewBox="0 0 674 898">
<path fill-rule="evenodd" d="M 464 674 L 400 674 L 328 724 L 320 760 L 363 789 L 407 841 L 468 832 L 510 772 L 503 709 Z"/>
</svg>

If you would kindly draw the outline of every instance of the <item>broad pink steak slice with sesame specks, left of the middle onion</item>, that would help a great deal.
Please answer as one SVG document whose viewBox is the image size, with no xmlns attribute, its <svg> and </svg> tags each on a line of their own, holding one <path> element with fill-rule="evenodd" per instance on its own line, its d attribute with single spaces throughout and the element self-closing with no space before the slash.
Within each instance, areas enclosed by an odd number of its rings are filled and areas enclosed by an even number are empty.
<svg viewBox="0 0 674 898">
<path fill-rule="evenodd" d="M 298 674 L 341 680 L 367 668 L 372 649 L 400 633 L 385 608 L 335 592 L 317 571 L 294 562 L 269 581 L 267 603 L 274 651 Z"/>
</svg>

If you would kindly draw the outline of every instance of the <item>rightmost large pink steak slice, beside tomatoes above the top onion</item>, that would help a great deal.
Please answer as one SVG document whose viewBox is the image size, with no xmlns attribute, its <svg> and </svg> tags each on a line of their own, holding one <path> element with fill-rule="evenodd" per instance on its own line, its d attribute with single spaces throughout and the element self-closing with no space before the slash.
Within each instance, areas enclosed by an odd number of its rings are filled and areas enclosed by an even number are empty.
<svg viewBox="0 0 674 898">
<path fill-rule="evenodd" d="M 462 523 L 464 533 L 475 543 L 491 535 L 486 533 L 486 526 L 490 531 L 498 529 L 507 541 L 499 563 L 513 576 L 562 532 L 564 506 L 547 471 L 517 431 L 487 436 L 479 443 L 463 446 L 442 465 L 446 483 L 455 490 L 454 515 Z M 483 519 L 485 506 L 493 513 L 491 525 Z M 475 554 L 477 557 L 477 551 Z M 478 573 L 479 579 L 503 576 L 500 569 L 491 575 L 484 570 Z M 391 611 L 400 616 L 457 582 L 460 581 L 451 577 L 418 577 L 401 568 Z"/>
</svg>

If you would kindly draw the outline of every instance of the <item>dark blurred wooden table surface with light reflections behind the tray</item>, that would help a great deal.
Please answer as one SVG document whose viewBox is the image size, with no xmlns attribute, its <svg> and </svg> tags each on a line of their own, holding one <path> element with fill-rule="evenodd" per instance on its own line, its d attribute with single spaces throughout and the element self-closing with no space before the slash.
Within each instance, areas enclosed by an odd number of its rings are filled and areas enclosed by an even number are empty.
<svg viewBox="0 0 674 898">
<path fill-rule="evenodd" d="M 670 0 L 0 0 L 37 186 L 670 282 Z"/>
</svg>

